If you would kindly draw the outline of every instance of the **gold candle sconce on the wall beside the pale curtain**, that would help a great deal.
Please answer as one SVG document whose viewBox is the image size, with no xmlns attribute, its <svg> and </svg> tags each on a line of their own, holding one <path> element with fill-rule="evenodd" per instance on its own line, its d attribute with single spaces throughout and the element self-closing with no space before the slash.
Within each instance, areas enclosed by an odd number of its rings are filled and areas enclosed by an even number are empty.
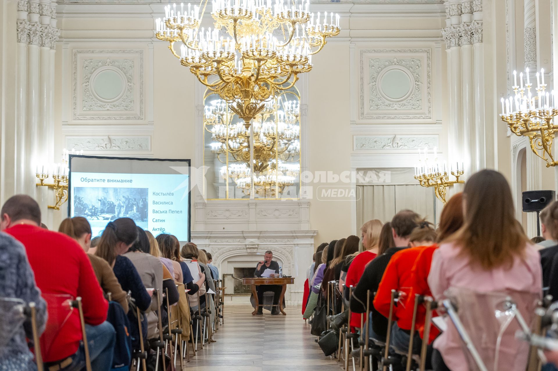
<svg viewBox="0 0 558 371">
<path fill-rule="evenodd" d="M 455 180 L 450 180 L 450 174 L 455 177 Z M 428 153 L 428 147 L 424 148 L 424 152 L 419 149 L 419 163 L 415 166 L 415 179 L 423 187 L 434 187 L 434 194 L 444 205 L 446 204 L 446 188 L 453 184 L 464 183 L 464 180 L 459 179 L 463 174 L 463 162 L 455 162 L 455 168 L 451 163 L 448 169 L 445 161 L 442 163 L 438 161 L 436 147 L 434 147 L 434 153 Z"/>
</svg>

